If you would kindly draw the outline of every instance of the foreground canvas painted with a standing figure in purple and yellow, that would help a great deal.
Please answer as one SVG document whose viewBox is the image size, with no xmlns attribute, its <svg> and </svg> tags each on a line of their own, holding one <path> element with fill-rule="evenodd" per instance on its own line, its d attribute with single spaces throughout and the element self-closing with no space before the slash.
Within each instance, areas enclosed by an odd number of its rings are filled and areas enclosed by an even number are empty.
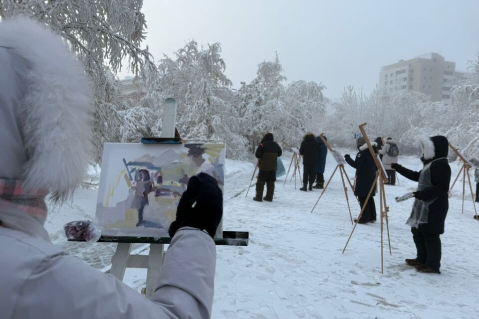
<svg viewBox="0 0 479 319">
<path fill-rule="evenodd" d="M 191 176 L 212 175 L 223 190 L 224 144 L 106 143 L 96 208 L 102 235 L 165 237 Z M 221 237 L 222 223 L 217 237 Z"/>
</svg>

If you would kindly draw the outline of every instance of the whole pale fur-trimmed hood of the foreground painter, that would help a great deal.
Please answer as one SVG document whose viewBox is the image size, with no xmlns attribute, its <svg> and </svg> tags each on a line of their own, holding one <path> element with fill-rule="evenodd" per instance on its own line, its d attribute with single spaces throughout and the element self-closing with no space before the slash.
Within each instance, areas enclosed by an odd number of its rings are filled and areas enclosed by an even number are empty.
<svg viewBox="0 0 479 319">
<path fill-rule="evenodd" d="M 85 71 L 60 36 L 27 18 L 0 23 L 0 69 L 0 150 L 10 152 L 0 154 L 0 178 L 22 179 L 61 202 L 91 159 Z"/>
</svg>

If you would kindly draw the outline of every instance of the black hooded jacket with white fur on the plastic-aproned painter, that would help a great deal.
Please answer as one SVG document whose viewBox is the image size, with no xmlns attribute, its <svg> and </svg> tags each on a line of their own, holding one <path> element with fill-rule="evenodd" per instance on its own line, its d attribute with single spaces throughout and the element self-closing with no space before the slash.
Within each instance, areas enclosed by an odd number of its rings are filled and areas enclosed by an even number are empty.
<svg viewBox="0 0 479 319">
<path fill-rule="evenodd" d="M 416 193 L 416 198 L 420 200 L 437 199 L 429 205 L 428 222 L 420 224 L 419 231 L 429 234 L 443 234 L 444 221 L 449 209 L 449 184 L 451 182 L 451 167 L 448 163 L 449 144 L 444 136 L 433 136 L 431 138 L 421 139 L 423 147 L 423 157 L 421 160 L 424 165 L 431 163 L 431 183 L 428 187 Z M 395 169 L 398 173 L 414 181 L 419 181 L 422 171 L 413 171 L 396 164 Z"/>
</svg>

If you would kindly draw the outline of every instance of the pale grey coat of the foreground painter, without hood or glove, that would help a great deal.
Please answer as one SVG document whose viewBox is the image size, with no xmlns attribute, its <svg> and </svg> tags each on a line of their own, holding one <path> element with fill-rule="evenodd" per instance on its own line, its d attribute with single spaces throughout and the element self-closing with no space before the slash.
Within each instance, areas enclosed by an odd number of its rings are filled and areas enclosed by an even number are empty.
<svg viewBox="0 0 479 319">
<path fill-rule="evenodd" d="M 0 219 L 11 207 L 2 202 Z M 4 226 L 0 226 L 2 319 L 211 316 L 216 248 L 212 238 L 201 230 L 184 227 L 176 232 L 156 292 L 148 300 L 49 241 Z"/>
</svg>

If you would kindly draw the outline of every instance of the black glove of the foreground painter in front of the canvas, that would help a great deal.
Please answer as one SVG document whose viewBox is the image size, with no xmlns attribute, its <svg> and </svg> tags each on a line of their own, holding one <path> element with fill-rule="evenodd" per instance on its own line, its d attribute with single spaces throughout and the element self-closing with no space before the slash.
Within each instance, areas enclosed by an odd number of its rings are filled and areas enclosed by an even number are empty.
<svg viewBox="0 0 479 319">
<path fill-rule="evenodd" d="M 223 193 L 218 182 L 206 173 L 199 173 L 188 181 L 168 233 L 173 238 L 179 228 L 189 226 L 206 230 L 214 238 L 222 216 Z"/>
</svg>

